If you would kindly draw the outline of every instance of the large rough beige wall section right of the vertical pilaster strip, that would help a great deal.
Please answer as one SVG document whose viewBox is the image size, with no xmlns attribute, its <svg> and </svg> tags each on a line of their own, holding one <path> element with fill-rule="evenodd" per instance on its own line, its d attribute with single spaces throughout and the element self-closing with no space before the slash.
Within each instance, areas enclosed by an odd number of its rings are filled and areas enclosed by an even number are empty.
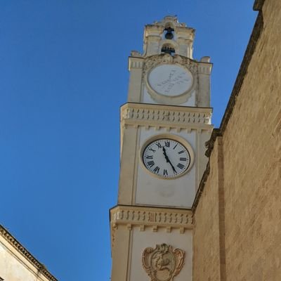
<svg viewBox="0 0 281 281">
<path fill-rule="evenodd" d="M 264 30 L 223 134 L 226 270 L 231 280 L 281 279 L 281 1 Z"/>
</svg>

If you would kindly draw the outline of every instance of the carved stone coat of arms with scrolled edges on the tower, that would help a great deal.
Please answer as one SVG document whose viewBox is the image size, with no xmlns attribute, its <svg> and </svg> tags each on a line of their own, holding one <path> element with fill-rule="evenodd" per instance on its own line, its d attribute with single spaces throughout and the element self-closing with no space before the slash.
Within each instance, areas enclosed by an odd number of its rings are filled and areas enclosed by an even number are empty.
<svg viewBox="0 0 281 281">
<path fill-rule="evenodd" d="M 183 268 L 185 251 L 174 249 L 167 244 L 157 244 L 155 249 L 143 251 L 143 268 L 151 281 L 172 281 Z"/>
</svg>

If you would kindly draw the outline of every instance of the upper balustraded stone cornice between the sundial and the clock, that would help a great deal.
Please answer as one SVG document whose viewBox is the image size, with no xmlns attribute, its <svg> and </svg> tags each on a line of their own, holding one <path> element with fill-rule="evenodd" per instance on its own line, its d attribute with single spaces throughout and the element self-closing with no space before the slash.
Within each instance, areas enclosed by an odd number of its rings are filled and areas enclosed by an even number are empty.
<svg viewBox="0 0 281 281">
<path fill-rule="evenodd" d="M 121 107 L 121 124 L 126 126 L 155 127 L 155 129 L 197 129 L 211 131 L 212 109 L 208 107 L 183 107 L 126 103 Z"/>
</svg>

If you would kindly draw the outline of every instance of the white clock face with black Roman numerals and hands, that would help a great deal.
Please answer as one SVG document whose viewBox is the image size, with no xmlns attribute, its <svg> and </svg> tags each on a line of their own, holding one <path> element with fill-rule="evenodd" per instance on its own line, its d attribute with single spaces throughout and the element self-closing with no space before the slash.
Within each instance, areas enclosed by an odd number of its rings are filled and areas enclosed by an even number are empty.
<svg viewBox="0 0 281 281">
<path fill-rule="evenodd" d="M 143 164 L 148 171 L 162 178 L 182 175 L 190 166 L 190 152 L 178 141 L 160 138 L 143 150 Z"/>
</svg>

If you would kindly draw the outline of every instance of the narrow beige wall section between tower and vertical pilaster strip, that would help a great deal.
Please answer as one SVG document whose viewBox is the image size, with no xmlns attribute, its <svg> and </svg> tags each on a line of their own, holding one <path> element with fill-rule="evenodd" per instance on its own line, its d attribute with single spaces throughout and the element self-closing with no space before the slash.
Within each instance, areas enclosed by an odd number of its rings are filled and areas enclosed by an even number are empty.
<svg viewBox="0 0 281 281">
<path fill-rule="evenodd" d="M 211 157 L 211 171 L 195 211 L 193 230 L 193 280 L 220 280 L 218 213 L 218 143 Z"/>
</svg>

